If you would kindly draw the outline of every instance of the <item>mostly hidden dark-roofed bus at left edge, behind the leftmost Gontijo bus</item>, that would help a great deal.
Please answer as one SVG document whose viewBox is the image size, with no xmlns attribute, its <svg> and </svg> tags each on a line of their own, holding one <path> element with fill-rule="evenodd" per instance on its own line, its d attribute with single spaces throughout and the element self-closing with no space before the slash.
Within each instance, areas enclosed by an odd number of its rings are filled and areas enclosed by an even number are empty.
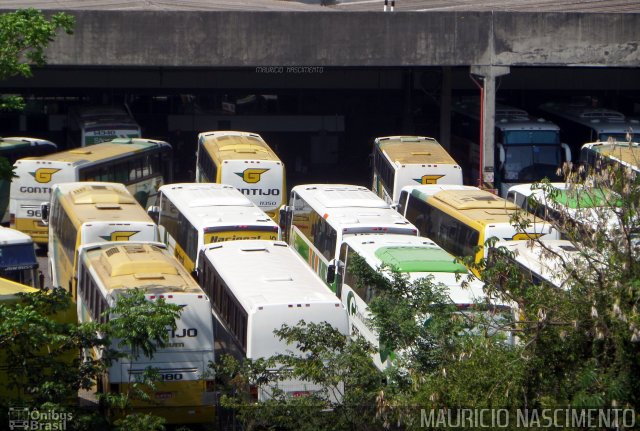
<svg viewBox="0 0 640 431">
<path fill-rule="evenodd" d="M 45 139 L 24 137 L 0 137 L 0 157 L 7 159 L 10 165 L 24 157 L 38 157 L 57 151 L 58 146 Z M 9 224 L 9 193 L 11 181 L 0 179 L 0 223 Z"/>
</svg>

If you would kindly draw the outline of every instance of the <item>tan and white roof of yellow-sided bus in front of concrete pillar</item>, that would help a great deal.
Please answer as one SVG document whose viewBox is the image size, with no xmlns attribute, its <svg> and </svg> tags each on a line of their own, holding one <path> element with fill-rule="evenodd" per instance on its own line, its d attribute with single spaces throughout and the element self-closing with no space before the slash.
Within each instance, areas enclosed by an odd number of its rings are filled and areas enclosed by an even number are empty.
<svg viewBox="0 0 640 431">
<path fill-rule="evenodd" d="M 448 208 L 464 217 L 467 222 L 483 228 L 499 223 L 511 225 L 511 217 L 516 211 L 522 211 L 515 203 L 477 187 L 461 189 L 448 188 L 446 185 L 415 186 L 411 194 L 423 201 L 429 200 L 441 209 Z M 540 224 L 545 223 L 544 220 L 528 213 L 523 214 L 523 217 L 539 221 Z"/>
</svg>

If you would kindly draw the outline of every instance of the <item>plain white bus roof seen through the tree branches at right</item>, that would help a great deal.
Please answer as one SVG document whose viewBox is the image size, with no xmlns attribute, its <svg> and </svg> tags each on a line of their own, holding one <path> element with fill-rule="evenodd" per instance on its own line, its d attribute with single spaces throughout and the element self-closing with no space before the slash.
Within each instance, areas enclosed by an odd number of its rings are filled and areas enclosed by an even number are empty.
<svg viewBox="0 0 640 431">
<path fill-rule="evenodd" d="M 568 277 L 563 262 L 571 266 L 580 260 L 580 250 L 571 241 L 562 239 L 496 242 L 496 248 L 501 246 L 513 252 L 520 265 L 560 288 L 567 287 Z"/>
</svg>

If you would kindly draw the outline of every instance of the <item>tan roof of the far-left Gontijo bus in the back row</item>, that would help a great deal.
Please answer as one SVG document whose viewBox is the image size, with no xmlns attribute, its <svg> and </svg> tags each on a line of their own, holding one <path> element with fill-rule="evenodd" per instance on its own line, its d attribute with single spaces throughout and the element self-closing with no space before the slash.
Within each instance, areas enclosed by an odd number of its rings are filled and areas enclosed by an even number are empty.
<svg viewBox="0 0 640 431">
<path fill-rule="evenodd" d="M 40 157 L 26 157 L 18 160 L 20 163 L 28 160 L 60 162 L 61 164 L 72 164 L 82 166 L 97 160 L 117 159 L 126 156 L 134 151 L 143 151 L 153 148 L 171 148 L 167 142 L 155 141 L 152 139 L 118 138 L 109 142 L 101 142 L 82 148 L 60 151 Z"/>
</svg>

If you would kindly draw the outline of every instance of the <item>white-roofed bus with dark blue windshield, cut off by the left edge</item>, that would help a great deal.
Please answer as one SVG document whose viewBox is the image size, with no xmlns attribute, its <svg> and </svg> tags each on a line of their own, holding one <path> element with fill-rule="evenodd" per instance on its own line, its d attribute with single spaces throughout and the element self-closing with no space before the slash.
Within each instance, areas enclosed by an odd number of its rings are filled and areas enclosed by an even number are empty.
<svg viewBox="0 0 640 431">
<path fill-rule="evenodd" d="M 38 260 L 31 237 L 8 227 L 0 227 L 0 277 L 42 288 Z"/>
</svg>

